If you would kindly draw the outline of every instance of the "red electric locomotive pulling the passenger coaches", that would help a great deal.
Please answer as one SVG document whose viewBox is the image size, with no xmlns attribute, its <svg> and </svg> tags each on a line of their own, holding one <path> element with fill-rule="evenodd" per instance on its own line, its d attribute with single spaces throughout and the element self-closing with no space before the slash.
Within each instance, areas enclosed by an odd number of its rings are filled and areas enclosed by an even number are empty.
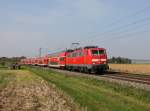
<svg viewBox="0 0 150 111">
<path fill-rule="evenodd" d="M 104 48 L 87 46 L 67 54 L 66 68 L 82 72 L 103 72 L 108 69 L 107 54 Z"/>
</svg>

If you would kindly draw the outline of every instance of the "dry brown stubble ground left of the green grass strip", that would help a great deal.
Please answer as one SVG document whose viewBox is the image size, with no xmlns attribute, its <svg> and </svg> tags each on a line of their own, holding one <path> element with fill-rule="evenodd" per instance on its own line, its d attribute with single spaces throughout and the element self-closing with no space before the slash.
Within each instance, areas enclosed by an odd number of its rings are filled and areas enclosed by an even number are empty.
<svg viewBox="0 0 150 111">
<path fill-rule="evenodd" d="M 9 73 L 15 76 L 0 89 L 0 111 L 74 111 L 69 99 L 38 76 L 28 71 Z"/>
</svg>

